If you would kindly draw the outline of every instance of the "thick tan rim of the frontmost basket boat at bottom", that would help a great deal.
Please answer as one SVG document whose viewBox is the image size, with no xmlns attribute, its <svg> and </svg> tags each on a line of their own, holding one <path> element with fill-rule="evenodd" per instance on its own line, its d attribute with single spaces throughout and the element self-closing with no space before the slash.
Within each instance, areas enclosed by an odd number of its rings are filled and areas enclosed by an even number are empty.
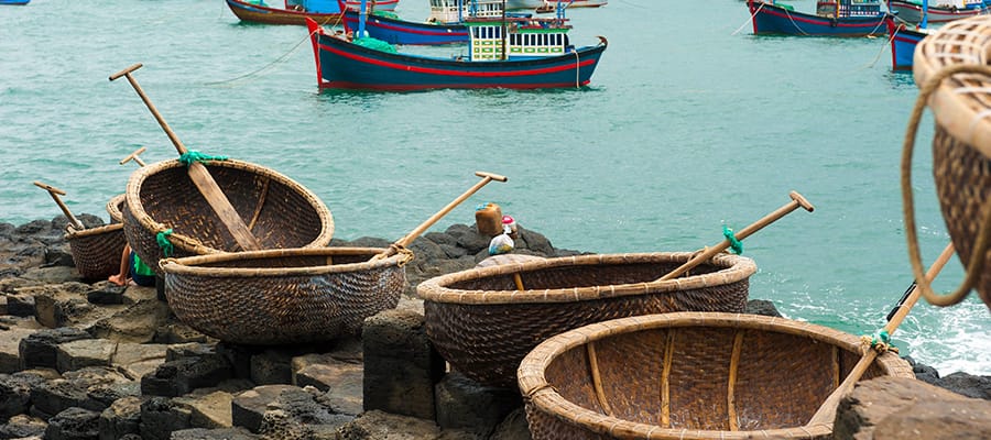
<svg viewBox="0 0 991 440">
<path fill-rule="evenodd" d="M 551 385 L 544 372 L 547 366 L 562 353 L 589 342 L 598 341 L 616 334 L 627 332 L 680 328 L 695 326 L 743 328 L 753 330 L 770 330 L 786 334 L 809 337 L 817 341 L 838 345 L 840 348 L 853 348 L 860 350 L 859 339 L 852 334 L 823 327 L 809 322 L 795 321 L 787 318 L 767 317 L 761 315 L 677 311 L 669 314 L 643 315 L 628 318 L 619 318 L 609 321 L 597 322 L 579 327 L 557 336 L 551 337 L 530 351 L 516 370 L 516 384 L 524 399 L 534 405 L 538 410 L 576 424 L 601 435 L 616 436 L 621 432 L 622 438 L 643 439 L 750 439 L 750 438 L 817 438 L 830 436 L 830 424 L 807 424 L 801 427 L 765 429 L 756 431 L 720 431 L 701 429 L 662 428 L 658 426 L 623 420 L 603 414 L 592 411 L 565 399 Z M 892 353 L 878 356 L 874 362 L 881 363 L 891 373 L 904 374 L 911 372 L 907 363 Z M 897 364 L 905 365 L 889 365 Z M 893 369 L 887 369 L 892 366 Z"/>
</svg>

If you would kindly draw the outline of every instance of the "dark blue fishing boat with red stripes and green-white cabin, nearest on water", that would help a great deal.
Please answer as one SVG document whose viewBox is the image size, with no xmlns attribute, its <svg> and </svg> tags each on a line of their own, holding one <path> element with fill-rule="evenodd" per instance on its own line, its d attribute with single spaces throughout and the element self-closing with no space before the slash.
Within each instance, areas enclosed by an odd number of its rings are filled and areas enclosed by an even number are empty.
<svg viewBox="0 0 991 440">
<path fill-rule="evenodd" d="M 357 32 L 348 33 L 307 20 L 322 89 L 580 87 L 591 80 L 608 45 L 602 36 L 596 45 L 571 45 L 562 11 L 554 18 L 471 18 L 465 22 L 467 55 L 428 57 L 396 53 L 366 37 L 364 15 Z"/>
</svg>

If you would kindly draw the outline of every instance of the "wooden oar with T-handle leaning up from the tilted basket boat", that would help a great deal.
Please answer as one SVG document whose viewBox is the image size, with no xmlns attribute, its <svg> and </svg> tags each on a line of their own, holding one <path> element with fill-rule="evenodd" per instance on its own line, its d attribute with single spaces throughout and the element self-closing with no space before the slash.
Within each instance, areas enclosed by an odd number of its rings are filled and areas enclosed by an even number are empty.
<svg viewBox="0 0 991 440">
<path fill-rule="evenodd" d="M 141 100 L 144 101 L 144 105 L 148 106 L 148 109 L 151 110 L 152 116 L 155 117 L 155 120 L 159 121 L 159 125 L 162 125 L 162 130 L 165 130 L 165 134 L 168 135 L 168 139 L 172 141 L 172 144 L 175 145 L 175 150 L 178 153 L 185 154 L 188 152 L 186 146 L 183 145 L 182 141 L 179 141 L 178 136 L 168 128 L 168 124 L 165 123 L 165 119 L 162 118 L 162 114 L 159 113 L 159 110 L 155 109 L 155 106 L 152 105 L 151 100 L 144 95 L 144 90 L 141 89 L 141 86 L 138 85 L 138 80 L 131 75 L 132 72 L 141 68 L 141 64 L 135 64 L 131 67 L 128 67 L 121 72 L 118 72 L 113 75 L 110 75 L 110 80 L 115 80 L 122 76 L 128 78 L 128 81 L 131 82 L 131 86 L 134 87 L 134 90 L 138 92 L 138 96 L 141 97 Z M 214 177 L 210 176 L 209 169 L 207 169 L 206 165 L 199 162 L 193 162 L 188 167 L 189 178 L 196 185 L 196 188 L 199 189 L 199 193 L 203 194 L 203 197 L 206 198 L 207 204 L 217 213 L 220 218 L 220 221 L 227 227 L 227 230 L 230 231 L 230 234 L 233 235 L 235 241 L 247 251 L 257 251 L 261 249 L 261 245 L 258 243 L 258 240 L 254 235 L 251 234 L 251 230 L 244 224 L 244 220 L 241 219 L 241 216 L 238 215 L 238 211 L 230 204 L 230 200 L 227 199 L 227 196 L 224 195 L 224 191 L 220 190 L 220 187 L 217 186 L 217 182 L 214 180 Z"/>
</svg>

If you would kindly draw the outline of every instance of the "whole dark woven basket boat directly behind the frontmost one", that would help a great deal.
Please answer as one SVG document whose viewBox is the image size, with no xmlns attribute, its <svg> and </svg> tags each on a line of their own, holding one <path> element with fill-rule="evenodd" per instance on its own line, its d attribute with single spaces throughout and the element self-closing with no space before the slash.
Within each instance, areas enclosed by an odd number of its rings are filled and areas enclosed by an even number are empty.
<svg viewBox="0 0 991 440">
<path fill-rule="evenodd" d="M 417 294 L 427 337 L 455 370 L 487 385 L 515 387 L 523 356 L 557 333 L 636 315 L 743 311 L 756 272 L 750 258 L 719 254 L 688 276 L 656 280 L 691 256 L 602 254 L 503 264 L 428 279 Z"/>
</svg>

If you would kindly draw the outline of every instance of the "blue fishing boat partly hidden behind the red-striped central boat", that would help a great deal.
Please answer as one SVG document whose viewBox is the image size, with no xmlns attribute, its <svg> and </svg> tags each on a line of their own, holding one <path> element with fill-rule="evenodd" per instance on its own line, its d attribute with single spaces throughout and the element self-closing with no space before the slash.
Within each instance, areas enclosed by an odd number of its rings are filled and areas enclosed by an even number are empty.
<svg viewBox="0 0 991 440">
<path fill-rule="evenodd" d="M 431 0 L 431 16 L 426 22 L 404 21 L 390 16 L 390 13 L 373 12 L 368 15 L 364 30 L 372 38 L 389 44 L 468 43 L 466 18 L 501 19 L 502 14 L 502 0 Z M 345 26 L 358 28 L 359 15 L 359 11 L 349 8 L 344 16 Z"/>
</svg>

